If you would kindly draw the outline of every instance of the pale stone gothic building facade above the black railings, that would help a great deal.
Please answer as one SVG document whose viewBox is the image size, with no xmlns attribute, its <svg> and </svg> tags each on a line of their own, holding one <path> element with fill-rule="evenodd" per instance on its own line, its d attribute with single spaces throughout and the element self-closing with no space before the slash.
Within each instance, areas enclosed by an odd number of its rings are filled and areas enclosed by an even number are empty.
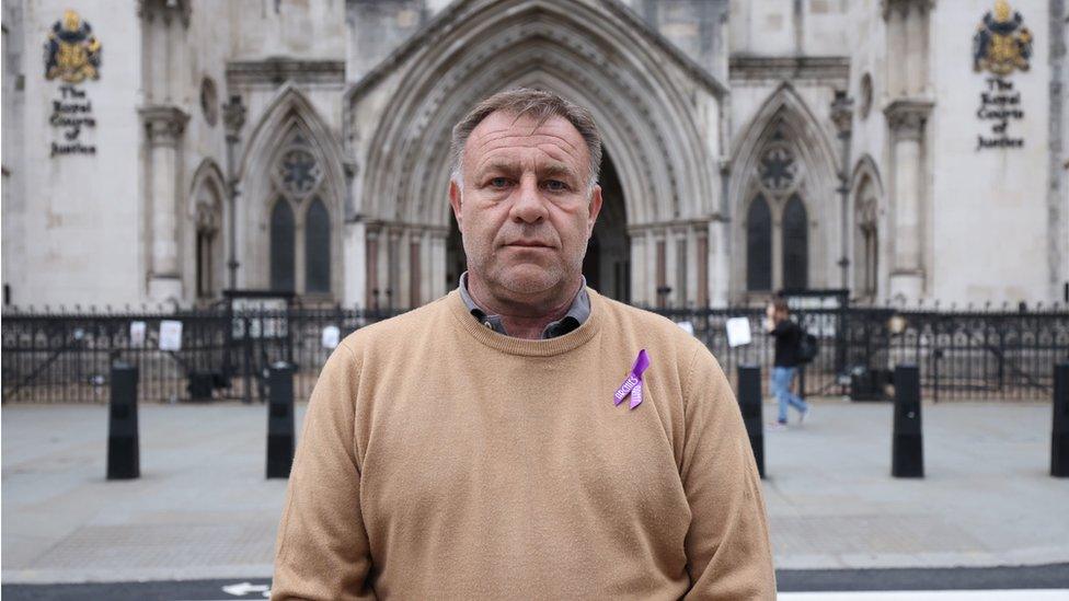
<svg viewBox="0 0 1069 601">
<path fill-rule="evenodd" d="M 604 130 L 609 296 L 1069 301 L 1065 0 L 119 4 L 3 4 L 8 304 L 427 302 L 450 127 L 516 85 Z"/>
</svg>

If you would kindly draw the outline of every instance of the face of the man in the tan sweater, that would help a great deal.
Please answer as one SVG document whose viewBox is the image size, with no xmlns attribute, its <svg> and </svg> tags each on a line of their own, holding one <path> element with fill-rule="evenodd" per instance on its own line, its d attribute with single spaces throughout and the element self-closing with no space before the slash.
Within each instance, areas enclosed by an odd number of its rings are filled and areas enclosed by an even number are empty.
<svg viewBox="0 0 1069 601">
<path fill-rule="evenodd" d="M 449 189 L 469 277 L 519 303 L 574 293 L 601 210 L 589 177 L 586 142 L 566 119 L 483 119 L 464 146 L 463 189 Z"/>
</svg>

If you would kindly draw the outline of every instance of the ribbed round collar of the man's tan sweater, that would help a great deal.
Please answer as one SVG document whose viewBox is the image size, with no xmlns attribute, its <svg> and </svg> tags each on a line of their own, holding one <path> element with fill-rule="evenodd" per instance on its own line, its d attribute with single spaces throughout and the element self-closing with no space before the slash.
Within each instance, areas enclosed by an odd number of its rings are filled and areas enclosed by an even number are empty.
<svg viewBox="0 0 1069 601">
<path fill-rule="evenodd" d="M 483 326 L 479 321 L 471 317 L 471 312 L 461 298 L 459 289 L 455 289 L 446 297 L 446 304 L 456 325 L 464 334 L 475 338 L 481 344 L 508 355 L 551 357 L 586 344 L 601 327 L 601 322 L 605 320 L 604 301 L 594 289 L 586 288 L 586 292 L 590 298 L 590 316 L 577 328 L 563 336 L 540 340 L 514 338 Z"/>
</svg>

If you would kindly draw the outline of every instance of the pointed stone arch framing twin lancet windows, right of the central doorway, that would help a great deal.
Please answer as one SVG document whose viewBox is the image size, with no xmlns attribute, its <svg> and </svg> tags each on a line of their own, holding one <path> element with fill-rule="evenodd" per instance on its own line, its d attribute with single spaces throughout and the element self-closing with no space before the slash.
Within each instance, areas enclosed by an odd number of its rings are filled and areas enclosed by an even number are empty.
<svg viewBox="0 0 1069 601">
<path fill-rule="evenodd" d="M 746 204 L 757 194 L 766 189 L 760 182 L 767 175 L 770 161 L 770 149 L 790 157 L 793 169 L 790 174 L 792 181 L 785 186 L 783 194 L 768 198 L 773 222 L 773 285 L 781 286 L 784 279 L 784 268 L 789 249 L 784 247 L 783 219 L 785 209 L 793 205 L 796 197 L 803 207 L 805 220 L 805 241 L 807 255 L 806 285 L 809 287 L 828 286 L 831 277 L 830 267 L 835 265 L 834 256 L 838 249 L 840 203 L 836 189 L 839 186 L 837 176 L 838 159 L 829 128 L 820 122 L 790 82 L 783 82 L 777 88 L 749 123 L 743 127 L 732 142 L 732 174 L 728 182 L 728 207 L 731 215 L 742 215 Z M 772 155 L 773 161 L 785 159 Z M 792 209 L 797 217 L 797 209 Z M 824 234 L 817 234 L 818 229 Z M 779 232 L 779 233 L 777 233 Z M 800 239 L 801 231 L 792 232 Z M 744 230 L 739 227 L 732 229 L 732 247 L 734 255 L 742 255 L 745 251 Z M 746 273 L 742 262 L 735 262 L 732 273 L 732 288 L 746 289 Z M 796 281 L 793 281 L 795 282 Z"/>
</svg>

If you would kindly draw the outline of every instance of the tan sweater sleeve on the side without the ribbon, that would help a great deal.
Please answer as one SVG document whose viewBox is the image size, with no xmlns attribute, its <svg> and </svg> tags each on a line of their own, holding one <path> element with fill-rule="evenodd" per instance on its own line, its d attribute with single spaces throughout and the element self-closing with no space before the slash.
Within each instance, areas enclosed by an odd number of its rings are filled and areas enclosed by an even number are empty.
<svg viewBox="0 0 1069 601">
<path fill-rule="evenodd" d="M 278 527 L 273 600 L 375 599 L 354 439 L 356 370 L 343 343 L 309 401 Z"/>
</svg>

